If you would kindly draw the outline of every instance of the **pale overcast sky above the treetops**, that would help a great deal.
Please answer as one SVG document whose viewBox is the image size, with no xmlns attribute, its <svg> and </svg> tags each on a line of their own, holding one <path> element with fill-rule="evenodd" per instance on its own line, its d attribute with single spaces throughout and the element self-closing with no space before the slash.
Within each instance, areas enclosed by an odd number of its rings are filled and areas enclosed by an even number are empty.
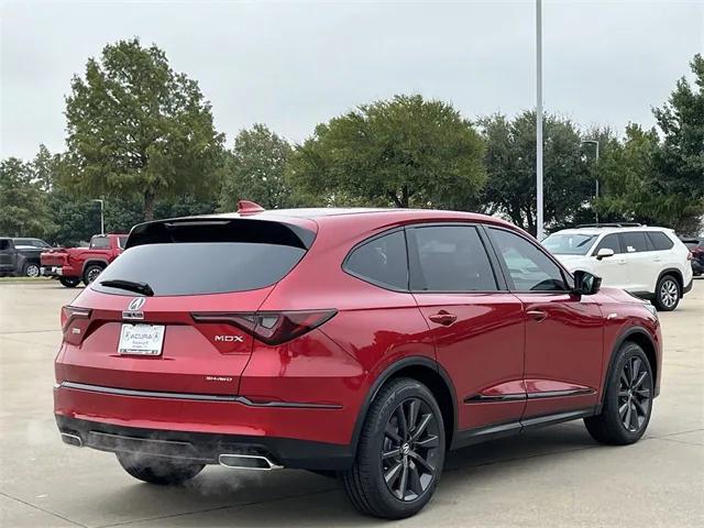
<svg viewBox="0 0 704 528">
<path fill-rule="evenodd" d="M 155 43 L 200 82 L 228 146 L 263 122 L 301 141 L 394 94 L 464 116 L 535 106 L 535 2 L 4 1 L 0 154 L 64 148 L 64 96 L 119 38 Z M 583 125 L 652 125 L 704 51 L 704 0 L 543 1 L 547 111 Z"/>
</svg>

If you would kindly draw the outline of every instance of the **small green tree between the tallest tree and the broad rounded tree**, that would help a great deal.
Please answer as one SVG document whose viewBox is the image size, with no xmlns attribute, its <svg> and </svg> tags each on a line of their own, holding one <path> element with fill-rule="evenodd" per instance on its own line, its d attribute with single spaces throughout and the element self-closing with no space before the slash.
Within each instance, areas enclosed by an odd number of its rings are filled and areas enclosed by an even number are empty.
<svg viewBox="0 0 704 528">
<path fill-rule="evenodd" d="M 293 147 L 263 124 L 242 130 L 226 163 L 220 195 L 222 210 L 237 210 L 240 199 L 266 209 L 290 205 L 292 189 L 285 173 Z"/>
</svg>

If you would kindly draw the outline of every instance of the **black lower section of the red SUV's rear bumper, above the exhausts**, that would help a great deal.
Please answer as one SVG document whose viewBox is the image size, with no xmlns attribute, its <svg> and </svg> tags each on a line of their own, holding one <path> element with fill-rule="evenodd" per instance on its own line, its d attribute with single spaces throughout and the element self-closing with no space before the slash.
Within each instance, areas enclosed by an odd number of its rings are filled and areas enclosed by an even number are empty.
<svg viewBox="0 0 704 528">
<path fill-rule="evenodd" d="M 168 457 L 217 464 L 221 454 L 262 455 L 284 468 L 344 470 L 352 465 L 348 446 L 289 438 L 215 435 L 114 426 L 56 415 L 62 433 L 80 438 L 84 447 L 108 452 Z"/>
</svg>

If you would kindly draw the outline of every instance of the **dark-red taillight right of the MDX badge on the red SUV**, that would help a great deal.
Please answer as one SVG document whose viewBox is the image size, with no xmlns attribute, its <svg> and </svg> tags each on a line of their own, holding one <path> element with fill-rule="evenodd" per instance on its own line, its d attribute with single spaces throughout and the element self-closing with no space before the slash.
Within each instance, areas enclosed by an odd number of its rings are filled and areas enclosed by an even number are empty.
<svg viewBox="0 0 704 528">
<path fill-rule="evenodd" d="M 233 324 L 266 344 L 282 344 L 329 321 L 338 310 L 198 312 L 197 322 Z"/>
</svg>

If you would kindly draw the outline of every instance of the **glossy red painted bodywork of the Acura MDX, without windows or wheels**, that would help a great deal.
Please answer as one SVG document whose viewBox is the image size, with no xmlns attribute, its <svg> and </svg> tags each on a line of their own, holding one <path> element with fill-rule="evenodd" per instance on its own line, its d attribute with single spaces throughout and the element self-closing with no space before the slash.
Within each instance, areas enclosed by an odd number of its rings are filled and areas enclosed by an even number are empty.
<svg viewBox="0 0 704 528">
<path fill-rule="evenodd" d="M 317 232 L 308 254 L 278 284 L 237 294 L 150 297 L 144 322 L 166 324 L 163 356 L 117 353 L 122 311 L 134 295 L 85 288 L 73 302 L 91 309 L 77 338 L 62 343 L 56 381 L 139 391 L 241 395 L 252 402 L 334 405 L 337 409 L 248 407 L 240 403 L 173 400 L 55 391 L 55 411 L 106 424 L 178 431 L 272 436 L 349 444 L 381 376 L 402 360 L 422 359 L 447 375 L 457 429 L 570 409 L 601 400 L 619 337 L 642 327 L 657 348 L 657 320 L 626 294 L 605 288 L 572 294 L 425 294 L 383 289 L 346 274 L 355 244 L 387 229 L 421 222 L 474 222 L 517 230 L 502 220 L 462 212 L 395 210 L 321 216 L 262 212 Z M 321 327 L 268 345 L 226 323 L 196 322 L 193 312 L 336 309 Z M 543 311 L 538 321 L 528 311 Z M 453 320 L 433 320 L 441 311 Z M 609 314 L 615 317 L 606 318 Z M 438 319 L 438 318 L 435 318 Z M 237 333 L 242 341 L 215 342 Z M 70 341 L 70 342 L 68 342 Z M 408 374 L 407 374 L 408 375 Z M 215 376 L 221 381 L 208 381 Z M 551 392 L 588 394 L 535 398 Z M 494 396 L 526 395 L 502 402 Z M 476 395 L 488 400 L 472 400 Z M 465 403 L 468 399 L 468 403 Z"/>
</svg>

